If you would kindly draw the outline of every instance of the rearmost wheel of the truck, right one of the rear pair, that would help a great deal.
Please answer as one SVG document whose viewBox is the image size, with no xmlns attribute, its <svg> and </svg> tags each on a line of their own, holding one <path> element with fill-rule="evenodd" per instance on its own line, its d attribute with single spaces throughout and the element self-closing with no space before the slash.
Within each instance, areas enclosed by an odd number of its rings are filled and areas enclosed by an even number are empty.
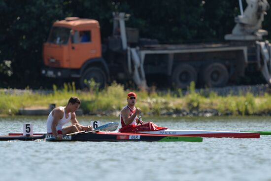
<svg viewBox="0 0 271 181">
<path fill-rule="evenodd" d="M 228 82 L 229 72 L 223 64 L 213 63 L 203 70 L 201 77 L 208 87 L 223 87 Z"/>
</svg>

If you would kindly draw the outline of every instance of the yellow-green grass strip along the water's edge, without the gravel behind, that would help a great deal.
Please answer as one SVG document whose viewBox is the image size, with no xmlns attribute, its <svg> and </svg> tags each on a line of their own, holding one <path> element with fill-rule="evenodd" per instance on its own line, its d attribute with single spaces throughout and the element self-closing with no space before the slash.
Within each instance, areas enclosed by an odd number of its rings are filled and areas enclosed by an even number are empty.
<svg viewBox="0 0 271 181">
<path fill-rule="evenodd" d="M 81 109 L 84 113 L 98 113 L 101 111 L 120 111 L 126 104 L 127 93 L 134 90 L 125 90 L 117 83 L 99 90 L 95 84 L 89 91 L 77 91 L 74 84 L 64 84 L 63 89 L 53 85 L 50 94 L 38 94 L 25 91 L 21 95 L 7 94 L 0 89 L 0 114 L 16 115 L 20 108 L 48 108 L 49 104 L 65 106 L 71 96 L 77 96 L 81 101 Z M 192 82 L 186 95 L 181 89 L 174 91 L 156 92 L 152 90 L 135 91 L 137 93 L 136 107 L 140 107 L 146 115 L 164 115 L 165 112 L 179 112 L 180 110 L 204 110 L 216 109 L 221 115 L 259 115 L 269 113 L 271 110 L 271 95 L 253 96 L 251 93 L 239 96 L 218 96 L 210 92 L 208 96 L 195 92 L 195 84 Z"/>
</svg>

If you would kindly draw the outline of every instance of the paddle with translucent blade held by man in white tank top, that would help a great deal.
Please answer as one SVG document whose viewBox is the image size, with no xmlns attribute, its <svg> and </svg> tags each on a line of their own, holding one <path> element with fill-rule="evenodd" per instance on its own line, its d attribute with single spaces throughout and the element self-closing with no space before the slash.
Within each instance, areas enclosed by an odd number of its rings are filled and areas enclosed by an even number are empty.
<svg viewBox="0 0 271 181">
<path fill-rule="evenodd" d="M 77 134 L 80 134 L 80 133 L 91 133 L 91 132 L 96 132 L 96 131 L 115 131 L 119 126 L 119 123 L 117 122 L 110 122 L 110 123 L 107 123 L 107 124 L 104 124 L 102 126 L 99 126 L 97 127 L 96 129 L 92 130 L 92 131 L 79 131 L 79 132 L 75 132 L 75 133 L 69 133 L 69 134 L 66 134 L 66 135 L 63 135 L 63 138 L 66 137 L 66 136 L 70 136 L 70 135 L 77 135 Z M 52 138 L 47 138 L 45 139 L 45 141 L 50 141 L 50 140 L 55 140 L 56 137 L 52 137 Z"/>
</svg>

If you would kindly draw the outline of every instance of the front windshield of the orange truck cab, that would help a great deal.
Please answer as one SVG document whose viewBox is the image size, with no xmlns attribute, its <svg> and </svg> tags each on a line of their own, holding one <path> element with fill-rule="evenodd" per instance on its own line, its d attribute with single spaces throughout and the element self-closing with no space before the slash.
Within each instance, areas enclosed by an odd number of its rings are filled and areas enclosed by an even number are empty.
<svg viewBox="0 0 271 181">
<path fill-rule="evenodd" d="M 53 27 L 47 42 L 54 44 L 67 44 L 70 29 L 64 27 Z"/>
</svg>

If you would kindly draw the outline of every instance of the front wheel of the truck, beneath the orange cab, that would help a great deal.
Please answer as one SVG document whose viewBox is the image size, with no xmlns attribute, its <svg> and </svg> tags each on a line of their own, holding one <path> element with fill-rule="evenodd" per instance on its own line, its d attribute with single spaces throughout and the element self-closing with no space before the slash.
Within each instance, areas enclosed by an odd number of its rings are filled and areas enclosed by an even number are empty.
<svg viewBox="0 0 271 181">
<path fill-rule="evenodd" d="M 81 88 L 89 87 L 89 81 L 93 79 L 95 83 L 99 85 L 100 88 L 104 87 L 106 84 L 106 76 L 102 69 L 98 67 L 92 67 L 85 70 L 80 78 Z M 87 81 L 87 82 L 86 82 Z"/>
</svg>

